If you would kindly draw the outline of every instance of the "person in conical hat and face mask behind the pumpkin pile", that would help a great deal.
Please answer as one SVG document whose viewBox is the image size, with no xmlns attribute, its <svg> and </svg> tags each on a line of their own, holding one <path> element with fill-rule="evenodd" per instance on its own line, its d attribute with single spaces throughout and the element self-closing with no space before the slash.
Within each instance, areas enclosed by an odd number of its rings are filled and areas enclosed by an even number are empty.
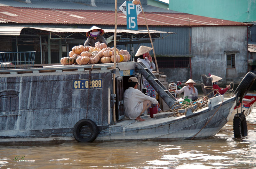
<svg viewBox="0 0 256 169">
<path fill-rule="evenodd" d="M 100 29 L 97 26 L 92 26 L 91 29 L 86 32 L 85 36 L 87 36 L 87 40 L 84 42 L 84 46 L 93 46 L 95 45 L 96 42 L 100 43 L 106 43 L 108 44 L 105 40 L 105 38 L 102 36 L 104 34 L 104 30 Z"/>
</svg>

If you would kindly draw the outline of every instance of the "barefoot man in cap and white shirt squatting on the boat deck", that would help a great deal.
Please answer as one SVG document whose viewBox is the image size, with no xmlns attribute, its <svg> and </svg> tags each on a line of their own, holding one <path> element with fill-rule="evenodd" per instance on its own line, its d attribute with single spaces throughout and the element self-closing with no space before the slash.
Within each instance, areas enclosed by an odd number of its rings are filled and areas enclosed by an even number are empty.
<svg viewBox="0 0 256 169">
<path fill-rule="evenodd" d="M 151 107 L 151 104 L 156 104 L 158 107 L 160 104 L 155 98 L 147 96 L 138 90 L 138 85 L 136 77 L 128 79 L 129 88 L 124 92 L 124 114 L 129 119 L 145 121 L 140 115 Z"/>
</svg>

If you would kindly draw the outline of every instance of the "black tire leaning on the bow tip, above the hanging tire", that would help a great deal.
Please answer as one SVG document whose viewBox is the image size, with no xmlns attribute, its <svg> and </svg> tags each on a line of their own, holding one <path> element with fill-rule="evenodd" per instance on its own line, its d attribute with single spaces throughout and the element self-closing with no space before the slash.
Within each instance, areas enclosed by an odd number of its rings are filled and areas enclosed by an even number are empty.
<svg viewBox="0 0 256 169">
<path fill-rule="evenodd" d="M 239 85 L 236 88 L 236 91 L 234 94 L 236 94 L 236 100 L 238 101 L 240 99 L 243 99 L 244 96 L 247 94 L 247 92 L 250 90 L 250 88 L 253 85 L 253 82 L 256 78 L 256 75 L 252 72 L 248 72 L 242 81 L 239 83 Z"/>
</svg>

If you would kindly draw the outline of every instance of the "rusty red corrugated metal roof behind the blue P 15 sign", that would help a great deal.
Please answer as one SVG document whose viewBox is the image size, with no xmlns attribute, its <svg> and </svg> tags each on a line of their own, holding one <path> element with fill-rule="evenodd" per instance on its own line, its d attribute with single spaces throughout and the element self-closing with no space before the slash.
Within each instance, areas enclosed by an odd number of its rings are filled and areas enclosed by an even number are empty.
<svg viewBox="0 0 256 169">
<path fill-rule="evenodd" d="M 208 18 L 187 13 L 144 12 L 149 26 L 246 26 L 249 24 Z M 114 11 L 26 8 L 0 6 L 0 23 L 19 24 L 85 24 L 114 25 Z M 142 12 L 137 16 L 138 26 L 145 25 Z M 117 24 L 126 25 L 126 16 L 117 12 Z"/>
</svg>

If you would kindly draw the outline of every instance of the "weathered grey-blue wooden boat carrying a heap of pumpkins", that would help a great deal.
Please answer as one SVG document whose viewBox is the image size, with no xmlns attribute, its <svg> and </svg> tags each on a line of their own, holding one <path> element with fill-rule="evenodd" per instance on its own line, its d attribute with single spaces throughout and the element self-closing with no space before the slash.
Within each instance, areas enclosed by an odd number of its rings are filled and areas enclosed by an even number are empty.
<svg viewBox="0 0 256 169">
<path fill-rule="evenodd" d="M 129 77 L 140 84 L 142 75 L 148 77 L 169 107 L 177 100 L 143 64 L 116 63 L 115 84 L 113 73 L 113 63 L 0 70 L 0 144 L 210 138 L 227 123 L 239 99 L 214 97 L 196 111 L 196 106 L 178 110 L 180 116 L 168 117 L 172 111 L 130 120 L 123 105 Z"/>
</svg>

